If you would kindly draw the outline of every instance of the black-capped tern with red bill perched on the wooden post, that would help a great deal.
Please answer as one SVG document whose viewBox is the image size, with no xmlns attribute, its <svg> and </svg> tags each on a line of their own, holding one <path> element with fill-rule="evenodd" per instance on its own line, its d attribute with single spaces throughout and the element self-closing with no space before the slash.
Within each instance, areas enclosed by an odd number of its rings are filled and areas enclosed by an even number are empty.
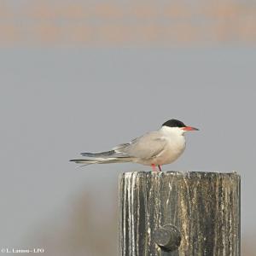
<svg viewBox="0 0 256 256">
<path fill-rule="evenodd" d="M 183 154 L 186 147 L 184 134 L 187 131 L 199 131 L 199 129 L 185 125 L 178 119 L 169 119 L 160 126 L 159 130 L 149 131 L 131 140 L 130 143 L 119 144 L 104 152 L 81 153 L 85 159 L 70 161 L 83 166 L 133 162 L 152 166 L 153 172 L 161 172 L 161 166 L 171 164 Z"/>
</svg>

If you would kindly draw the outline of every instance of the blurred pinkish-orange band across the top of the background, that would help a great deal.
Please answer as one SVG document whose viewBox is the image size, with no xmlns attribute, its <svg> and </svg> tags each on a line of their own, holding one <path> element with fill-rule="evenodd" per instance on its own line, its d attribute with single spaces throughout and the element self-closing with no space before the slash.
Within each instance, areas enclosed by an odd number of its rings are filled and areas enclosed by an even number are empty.
<svg viewBox="0 0 256 256">
<path fill-rule="evenodd" d="M 256 42 L 253 1 L 0 3 L 0 45 L 196 46 Z"/>
</svg>

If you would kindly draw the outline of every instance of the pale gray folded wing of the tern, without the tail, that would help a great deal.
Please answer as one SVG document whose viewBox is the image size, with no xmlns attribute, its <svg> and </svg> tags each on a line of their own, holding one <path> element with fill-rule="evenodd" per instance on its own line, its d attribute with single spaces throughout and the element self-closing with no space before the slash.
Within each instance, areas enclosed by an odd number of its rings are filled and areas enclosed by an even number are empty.
<svg viewBox="0 0 256 256">
<path fill-rule="evenodd" d="M 166 139 L 159 132 L 151 131 L 131 141 L 113 148 L 116 153 L 127 154 L 140 159 L 151 159 L 160 154 L 166 146 Z"/>
</svg>

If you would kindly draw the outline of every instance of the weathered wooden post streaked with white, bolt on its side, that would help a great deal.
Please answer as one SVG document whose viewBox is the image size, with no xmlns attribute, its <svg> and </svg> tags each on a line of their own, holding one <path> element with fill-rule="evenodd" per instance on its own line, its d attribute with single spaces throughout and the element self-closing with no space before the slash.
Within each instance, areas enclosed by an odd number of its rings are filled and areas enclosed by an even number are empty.
<svg viewBox="0 0 256 256">
<path fill-rule="evenodd" d="M 125 172 L 119 256 L 240 256 L 240 176 Z"/>
</svg>

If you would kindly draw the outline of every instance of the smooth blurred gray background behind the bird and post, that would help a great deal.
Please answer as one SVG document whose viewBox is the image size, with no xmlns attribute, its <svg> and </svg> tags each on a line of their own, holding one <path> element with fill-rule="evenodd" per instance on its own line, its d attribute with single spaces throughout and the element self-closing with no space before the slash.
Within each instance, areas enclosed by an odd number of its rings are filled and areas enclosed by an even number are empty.
<svg viewBox="0 0 256 256">
<path fill-rule="evenodd" d="M 119 173 L 149 168 L 77 168 L 68 160 L 177 118 L 201 131 L 187 134 L 184 154 L 164 171 L 239 172 L 243 255 L 253 254 L 255 49 L 15 48 L 0 55 L 0 247 L 117 255 Z"/>
</svg>

